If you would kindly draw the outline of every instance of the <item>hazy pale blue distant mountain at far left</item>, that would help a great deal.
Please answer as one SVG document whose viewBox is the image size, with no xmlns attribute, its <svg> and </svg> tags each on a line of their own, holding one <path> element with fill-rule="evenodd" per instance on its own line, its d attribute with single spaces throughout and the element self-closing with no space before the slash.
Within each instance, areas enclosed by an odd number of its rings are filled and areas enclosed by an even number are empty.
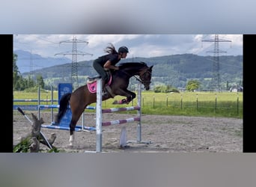
<svg viewBox="0 0 256 187">
<path fill-rule="evenodd" d="M 40 70 L 45 67 L 52 67 L 55 65 L 67 64 L 71 62 L 71 60 L 66 57 L 44 58 L 40 55 L 23 50 L 15 50 L 13 53 L 18 55 L 16 65 L 18 66 L 20 73 L 28 73 L 33 70 Z"/>
</svg>

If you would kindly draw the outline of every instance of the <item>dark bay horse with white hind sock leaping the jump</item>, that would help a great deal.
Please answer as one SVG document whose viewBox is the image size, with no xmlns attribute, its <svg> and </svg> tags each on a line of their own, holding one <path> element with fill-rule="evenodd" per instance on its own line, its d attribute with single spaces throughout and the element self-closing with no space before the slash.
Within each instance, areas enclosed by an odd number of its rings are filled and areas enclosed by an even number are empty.
<svg viewBox="0 0 256 187">
<path fill-rule="evenodd" d="M 151 74 L 153 66 L 148 67 L 144 62 L 127 62 L 118 65 L 119 70 L 111 72 L 112 82 L 109 87 L 112 89 L 114 96 L 126 96 L 126 99 L 122 99 L 124 103 L 129 103 L 135 98 L 136 94 L 132 91 L 127 90 L 129 85 L 129 79 L 134 76 L 139 82 L 144 85 L 145 90 L 150 89 Z M 138 77 L 137 77 L 138 76 Z M 100 78 L 100 77 L 98 77 Z M 103 94 L 103 100 L 114 98 L 110 94 Z M 73 93 L 65 93 L 61 96 L 59 102 L 59 110 L 55 123 L 59 123 L 61 118 L 67 111 L 68 105 L 70 105 L 72 117 L 70 120 L 70 146 L 73 145 L 74 131 L 76 123 L 79 117 L 85 111 L 85 108 L 91 103 L 97 102 L 97 93 L 91 93 L 88 90 L 88 84 L 82 85 L 77 88 Z"/>
</svg>

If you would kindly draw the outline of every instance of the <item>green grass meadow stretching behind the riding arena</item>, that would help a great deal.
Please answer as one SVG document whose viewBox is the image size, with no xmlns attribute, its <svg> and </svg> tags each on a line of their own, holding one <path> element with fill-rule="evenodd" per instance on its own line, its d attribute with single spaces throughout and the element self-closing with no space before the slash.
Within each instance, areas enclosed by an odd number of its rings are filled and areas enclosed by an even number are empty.
<svg viewBox="0 0 256 187">
<path fill-rule="evenodd" d="M 41 91 L 40 99 L 51 99 L 51 94 Z M 37 99 L 37 97 L 37 92 L 13 92 L 13 99 Z M 53 98 L 58 99 L 57 91 L 53 92 Z M 114 99 L 103 101 L 103 108 L 137 105 L 137 97 L 128 105 L 112 104 L 114 100 L 119 99 L 124 99 L 124 96 L 115 96 Z M 40 104 L 50 105 L 51 102 L 40 102 Z M 57 105 L 58 102 L 53 102 L 53 104 Z M 13 105 L 37 105 L 37 102 L 13 102 Z M 142 114 L 243 118 L 243 93 L 154 93 L 153 91 L 143 91 L 141 93 L 141 108 Z M 87 110 L 87 112 L 94 111 Z M 136 113 L 136 111 L 126 112 L 128 114 Z"/>
</svg>

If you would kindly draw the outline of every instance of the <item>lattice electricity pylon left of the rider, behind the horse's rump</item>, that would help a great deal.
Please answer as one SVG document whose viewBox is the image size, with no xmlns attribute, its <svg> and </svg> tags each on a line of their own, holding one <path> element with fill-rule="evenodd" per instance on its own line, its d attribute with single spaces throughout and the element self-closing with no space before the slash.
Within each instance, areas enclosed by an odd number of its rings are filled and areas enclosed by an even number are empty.
<svg viewBox="0 0 256 187">
<path fill-rule="evenodd" d="M 66 41 L 61 41 L 60 43 L 73 43 L 73 49 L 72 52 L 61 52 L 57 53 L 55 55 L 72 55 L 72 66 L 71 66 L 71 83 L 73 84 L 73 88 L 79 88 L 79 82 L 78 82 L 78 75 L 77 75 L 77 55 L 91 55 L 88 52 L 80 52 L 77 50 L 77 43 L 86 43 L 88 44 L 87 41 L 83 40 L 78 40 L 76 39 L 76 36 L 73 36 L 72 40 L 66 40 Z"/>
</svg>

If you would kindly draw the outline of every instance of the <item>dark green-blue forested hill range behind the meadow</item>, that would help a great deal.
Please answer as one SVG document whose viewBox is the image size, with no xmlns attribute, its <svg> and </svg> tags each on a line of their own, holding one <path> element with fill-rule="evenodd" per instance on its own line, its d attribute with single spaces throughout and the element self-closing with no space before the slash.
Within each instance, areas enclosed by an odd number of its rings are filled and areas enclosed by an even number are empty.
<svg viewBox="0 0 256 187">
<path fill-rule="evenodd" d="M 185 88 L 191 79 L 201 82 L 201 89 L 210 89 L 210 80 L 213 76 L 213 57 L 193 54 L 167 55 L 153 58 L 126 58 L 120 63 L 128 61 L 144 61 L 148 66 L 153 65 L 152 87 L 156 85 L 171 85 L 175 88 Z M 80 61 L 77 64 L 79 85 L 84 85 L 88 76 L 97 76 L 92 67 L 93 61 Z M 43 76 L 46 85 L 55 88 L 60 82 L 71 82 L 72 63 L 45 67 L 31 73 L 22 73 L 22 76 Z M 223 89 L 233 85 L 243 85 L 243 55 L 219 56 L 220 85 Z M 132 79 L 131 84 L 136 80 Z"/>
</svg>

